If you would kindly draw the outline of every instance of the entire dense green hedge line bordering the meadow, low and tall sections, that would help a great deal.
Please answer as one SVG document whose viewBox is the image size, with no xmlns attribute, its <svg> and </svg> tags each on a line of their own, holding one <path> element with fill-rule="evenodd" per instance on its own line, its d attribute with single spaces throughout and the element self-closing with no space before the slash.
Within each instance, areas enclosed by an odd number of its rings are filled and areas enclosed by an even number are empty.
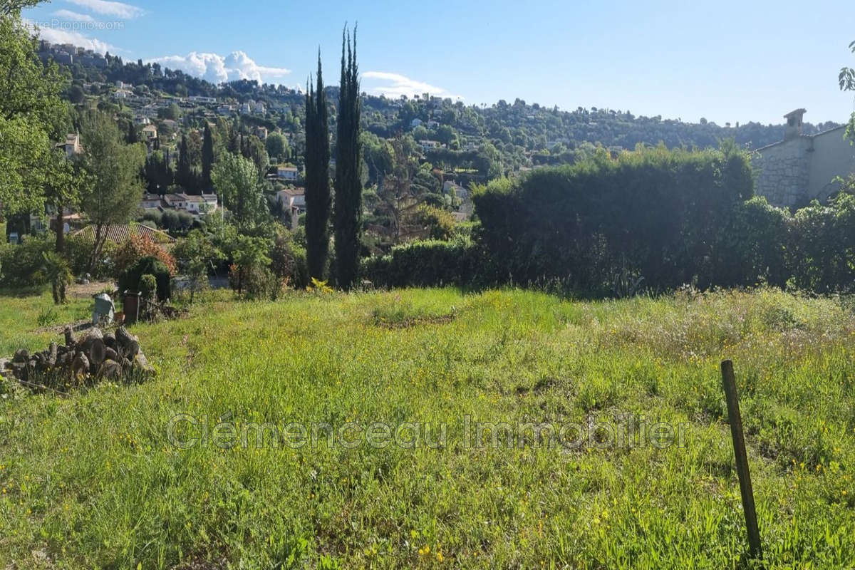
<svg viewBox="0 0 855 570">
<path fill-rule="evenodd" d="M 497 284 L 588 297 L 768 284 L 855 291 L 855 197 L 791 214 L 753 196 L 747 156 L 598 153 L 475 192 L 475 242 L 399 246 L 363 263 L 386 287 Z"/>
</svg>

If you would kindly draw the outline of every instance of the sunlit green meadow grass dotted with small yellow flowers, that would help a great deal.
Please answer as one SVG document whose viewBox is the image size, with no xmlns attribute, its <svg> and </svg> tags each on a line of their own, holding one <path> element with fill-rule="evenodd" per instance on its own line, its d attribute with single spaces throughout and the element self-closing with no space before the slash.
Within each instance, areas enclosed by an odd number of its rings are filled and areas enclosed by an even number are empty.
<svg viewBox="0 0 855 570">
<path fill-rule="evenodd" d="M 3 350 L 46 340 L 32 315 L 48 297 L 0 303 Z M 855 565 L 855 313 L 839 300 L 295 293 L 134 332 L 156 379 L 0 401 L 0 567 L 746 567 L 722 358 L 768 567 Z M 682 444 L 600 428 L 478 446 L 467 418 L 667 422 Z M 289 439 L 226 445 L 252 422 Z M 294 422 L 345 437 L 297 447 Z M 374 422 L 398 440 L 365 444 Z M 433 434 L 410 449 L 404 422 Z"/>
</svg>

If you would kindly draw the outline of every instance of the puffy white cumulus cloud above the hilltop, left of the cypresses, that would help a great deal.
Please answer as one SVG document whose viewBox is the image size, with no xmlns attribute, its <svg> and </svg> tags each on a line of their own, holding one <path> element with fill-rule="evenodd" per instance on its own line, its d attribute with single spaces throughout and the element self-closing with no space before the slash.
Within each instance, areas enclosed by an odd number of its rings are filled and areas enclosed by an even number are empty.
<svg viewBox="0 0 855 570">
<path fill-rule="evenodd" d="M 259 83 L 276 83 L 273 79 L 291 73 L 286 68 L 268 68 L 258 65 L 243 51 L 233 51 L 228 56 L 215 53 L 191 51 L 186 56 L 155 57 L 148 62 L 160 63 L 165 68 L 180 69 L 211 83 L 256 79 Z"/>
</svg>

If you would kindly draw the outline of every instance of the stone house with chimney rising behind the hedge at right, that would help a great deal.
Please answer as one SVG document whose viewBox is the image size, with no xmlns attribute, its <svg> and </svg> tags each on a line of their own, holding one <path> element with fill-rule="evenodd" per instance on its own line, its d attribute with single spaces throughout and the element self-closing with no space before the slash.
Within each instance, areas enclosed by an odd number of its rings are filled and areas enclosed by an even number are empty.
<svg viewBox="0 0 855 570">
<path fill-rule="evenodd" d="M 855 147 L 845 138 L 846 126 L 815 135 L 802 134 L 805 109 L 784 115 L 784 139 L 757 150 L 753 161 L 757 193 L 775 206 L 798 207 L 825 201 L 840 190 L 837 177 L 855 173 Z"/>
</svg>

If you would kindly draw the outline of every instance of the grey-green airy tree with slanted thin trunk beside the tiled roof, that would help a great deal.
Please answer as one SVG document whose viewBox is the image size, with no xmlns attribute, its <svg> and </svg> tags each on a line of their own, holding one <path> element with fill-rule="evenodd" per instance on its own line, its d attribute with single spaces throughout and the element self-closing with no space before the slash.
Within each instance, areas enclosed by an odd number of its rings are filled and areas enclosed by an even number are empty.
<svg viewBox="0 0 855 570">
<path fill-rule="evenodd" d="M 92 179 L 80 200 L 95 232 L 87 266 L 91 272 L 110 226 L 127 224 L 139 209 L 144 192 L 139 172 L 145 162 L 145 146 L 125 144 L 113 117 L 97 111 L 84 117 L 81 138 L 82 166 Z"/>
</svg>

